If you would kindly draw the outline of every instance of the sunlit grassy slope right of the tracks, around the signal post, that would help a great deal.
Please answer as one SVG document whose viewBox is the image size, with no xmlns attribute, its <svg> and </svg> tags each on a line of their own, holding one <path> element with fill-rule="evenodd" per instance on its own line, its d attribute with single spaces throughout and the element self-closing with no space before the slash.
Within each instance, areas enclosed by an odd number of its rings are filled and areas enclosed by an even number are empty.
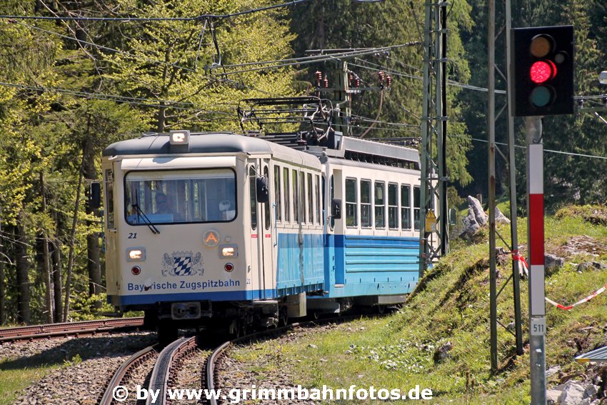
<svg viewBox="0 0 607 405">
<path fill-rule="evenodd" d="M 521 219 L 518 224 L 519 243 L 526 244 L 526 221 Z M 499 229 L 504 237 L 509 235 L 508 230 Z M 546 218 L 547 253 L 562 249 L 572 236 L 579 235 L 590 236 L 596 239 L 597 246 L 604 246 L 607 227 L 588 224 L 581 216 Z M 254 363 L 260 353 L 278 353 L 280 361 L 276 361 L 276 367 L 290 365 L 292 374 L 299 376 L 295 383 L 309 388 L 325 384 L 338 389 L 356 384 L 408 390 L 417 384 L 433 390 L 433 404 L 528 404 L 531 400 L 528 354 L 514 356 L 514 337 L 501 326 L 498 326 L 500 370 L 491 374 L 487 259 L 488 244 L 464 245 L 444 257 L 426 275 L 429 280 L 426 288 L 413 294 L 397 314 L 361 319 L 326 334 L 307 334 L 280 347 L 276 341 L 269 341 L 249 352 L 242 351 L 239 356 Z M 567 258 L 566 266 L 546 279 L 546 295 L 571 304 L 607 284 L 607 271 L 578 274 L 572 262 L 586 260 L 607 261 L 607 256 L 588 253 Z M 498 271 L 500 288 L 511 274 L 510 261 L 498 266 Z M 525 280 L 521 281 L 523 339 L 527 339 L 527 301 Z M 498 319 L 502 324 L 513 321 L 512 302 L 510 284 L 498 298 Z M 564 374 L 584 371 L 584 366 L 573 361 L 578 352 L 575 342 L 583 351 L 607 344 L 603 333 L 607 324 L 606 304 L 607 294 L 573 311 L 561 311 L 547 304 L 548 367 L 558 364 Z M 453 347 L 450 356 L 435 362 L 435 349 L 446 342 Z M 556 382 L 556 376 L 548 379 L 549 384 Z"/>
</svg>

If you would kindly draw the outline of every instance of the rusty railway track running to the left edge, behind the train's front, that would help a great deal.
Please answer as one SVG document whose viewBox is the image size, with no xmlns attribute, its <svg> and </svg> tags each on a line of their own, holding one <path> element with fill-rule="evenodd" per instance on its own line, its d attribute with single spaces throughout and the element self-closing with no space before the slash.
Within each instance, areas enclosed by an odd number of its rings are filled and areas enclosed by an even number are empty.
<svg viewBox="0 0 607 405">
<path fill-rule="evenodd" d="M 62 324 L 19 326 L 0 329 L 0 342 L 46 339 L 59 336 L 90 336 L 116 329 L 143 326 L 143 318 L 100 319 Z"/>
</svg>

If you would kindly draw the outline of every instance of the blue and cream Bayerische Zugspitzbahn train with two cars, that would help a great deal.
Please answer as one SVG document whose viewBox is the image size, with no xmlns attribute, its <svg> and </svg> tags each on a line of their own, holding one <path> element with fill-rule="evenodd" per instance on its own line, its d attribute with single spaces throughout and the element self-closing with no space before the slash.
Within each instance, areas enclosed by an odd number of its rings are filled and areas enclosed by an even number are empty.
<svg viewBox="0 0 607 405">
<path fill-rule="evenodd" d="M 417 149 L 230 132 L 142 134 L 102 156 L 106 286 L 171 341 L 402 303 L 420 260 Z"/>
</svg>

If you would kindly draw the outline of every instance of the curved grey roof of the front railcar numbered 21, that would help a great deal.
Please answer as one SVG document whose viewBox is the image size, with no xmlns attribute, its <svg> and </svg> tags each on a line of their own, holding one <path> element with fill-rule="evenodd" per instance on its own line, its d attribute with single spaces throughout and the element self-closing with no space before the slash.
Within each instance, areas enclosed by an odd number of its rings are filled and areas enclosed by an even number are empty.
<svg viewBox="0 0 607 405">
<path fill-rule="evenodd" d="M 125 141 L 114 142 L 106 147 L 103 156 L 138 156 L 170 154 L 272 154 L 307 166 L 319 166 L 318 159 L 310 154 L 296 151 L 261 138 L 232 133 L 191 133 L 188 149 L 171 149 L 169 134 L 152 134 Z"/>
</svg>

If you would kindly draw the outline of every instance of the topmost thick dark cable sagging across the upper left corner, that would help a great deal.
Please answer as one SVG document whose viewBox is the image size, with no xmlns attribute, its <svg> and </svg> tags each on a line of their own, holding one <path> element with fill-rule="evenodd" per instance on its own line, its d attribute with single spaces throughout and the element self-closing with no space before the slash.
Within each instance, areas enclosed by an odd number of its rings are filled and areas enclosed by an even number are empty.
<svg viewBox="0 0 607 405">
<path fill-rule="evenodd" d="M 237 16 L 244 16 L 246 14 L 257 13 L 259 11 L 268 11 L 272 9 L 279 9 L 282 7 L 294 6 L 296 4 L 304 3 L 308 0 L 294 0 L 288 3 L 275 4 L 274 6 L 259 7 L 258 9 L 251 9 L 246 11 L 238 11 L 231 14 L 201 14 L 194 17 L 83 17 L 83 16 L 62 16 L 62 17 L 50 17 L 50 16 L 8 16 L 0 15 L 0 19 L 22 19 L 22 20 L 61 20 L 61 21 L 119 21 L 119 22 L 151 22 L 151 21 L 198 21 L 201 19 L 228 19 Z"/>
</svg>

